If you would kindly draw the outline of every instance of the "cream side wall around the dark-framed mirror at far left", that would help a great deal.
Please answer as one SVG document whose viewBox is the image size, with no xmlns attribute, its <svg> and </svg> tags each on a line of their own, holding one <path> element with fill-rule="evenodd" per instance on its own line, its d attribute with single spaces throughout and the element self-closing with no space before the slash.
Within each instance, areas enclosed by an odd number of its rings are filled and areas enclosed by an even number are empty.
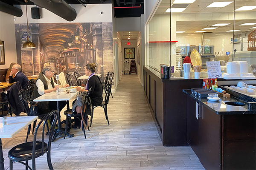
<svg viewBox="0 0 256 170">
<path fill-rule="evenodd" d="M 4 41 L 5 65 L 0 65 L 0 69 L 9 68 L 12 62 L 17 63 L 16 40 L 14 16 L 0 11 L 0 40 Z"/>
</svg>

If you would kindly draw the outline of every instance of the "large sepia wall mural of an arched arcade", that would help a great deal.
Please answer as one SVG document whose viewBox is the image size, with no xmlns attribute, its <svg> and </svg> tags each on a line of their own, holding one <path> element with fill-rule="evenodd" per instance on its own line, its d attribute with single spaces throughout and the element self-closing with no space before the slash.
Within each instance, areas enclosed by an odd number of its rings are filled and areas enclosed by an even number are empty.
<svg viewBox="0 0 256 170">
<path fill-rule="evenodd" d="M 95 62 L 102 80 L 113 71 L 112 23 L 32 23 L 27 33 L 26 24 L 15 24 L 17 63 L 27 76 L 38 75 L 44 63 L 55 72 L 78 71 L 84 75 L 84 66 Z M 36 48 L 23 49 L 26 36 Z M 25 38 L 24 38 L 25 37 Z"/>
</svg>

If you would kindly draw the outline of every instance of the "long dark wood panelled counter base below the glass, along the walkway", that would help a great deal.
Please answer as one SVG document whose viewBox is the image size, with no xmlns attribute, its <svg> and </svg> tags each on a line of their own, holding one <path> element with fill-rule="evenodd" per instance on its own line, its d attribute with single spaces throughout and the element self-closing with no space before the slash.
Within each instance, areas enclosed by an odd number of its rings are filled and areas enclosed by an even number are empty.
<svg viewBox="0 0 256 170">
<path fill-rule="evenodd" d="M 202 88 L 203 79 L 161 79 L 144 68 L 144 93 L 164 146 L 188 146 L 186 142 L 187 88 Z"/>
</svg>

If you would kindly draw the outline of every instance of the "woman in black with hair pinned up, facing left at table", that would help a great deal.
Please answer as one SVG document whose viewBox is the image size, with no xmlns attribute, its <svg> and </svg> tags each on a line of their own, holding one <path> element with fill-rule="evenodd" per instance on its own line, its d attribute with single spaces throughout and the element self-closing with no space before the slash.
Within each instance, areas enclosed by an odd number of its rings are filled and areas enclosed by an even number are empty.
<svg viewBox="0 0 256 170">
<path fill-rule="evenodd" d="M 85 85 L 85 89 L 81 89 L 80 87 L 77 87 L 76 90 L 80 92 L 88 91 L 88 89 L 92 88 L 91 94 L 90 94 L 90 100 L 92 107 L 95 105 L 100 105 L 102 103 L 102 85 L 100 82 L 100 79 L 98 76 L 95 75 L 95 68 L 97 65 L 95 63 L 87 64 L 84 67 L 84 72 L 87 76 L 89 76 L 88 81 Z M 81 113 L 81 108 L 76 107 L 76 112 Z M 80 128 L 80 122 L 78 119 L 75 119 L 75 125 L 73 128 L 79 127 Z"/>
</svg>

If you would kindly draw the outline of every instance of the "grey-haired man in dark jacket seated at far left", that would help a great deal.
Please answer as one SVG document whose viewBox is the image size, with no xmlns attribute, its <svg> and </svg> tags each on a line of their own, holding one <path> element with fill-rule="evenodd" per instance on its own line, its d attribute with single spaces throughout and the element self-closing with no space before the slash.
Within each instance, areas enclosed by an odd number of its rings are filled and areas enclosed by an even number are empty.
<svg viewBox="0 0 256 170">
<path fill-rule="evenodd" d="M 12 78 L 12 75 L 15 75 L 15 77 Z M 21 66 L 18 64 L 12 66 L 12 71 L 9 76 L 9 83 L 13 82 L 20 82 L 23 89 L 26 89 L 26 85 L 29 82 L 29 79 L 21 72 Z"/>
</svg>

